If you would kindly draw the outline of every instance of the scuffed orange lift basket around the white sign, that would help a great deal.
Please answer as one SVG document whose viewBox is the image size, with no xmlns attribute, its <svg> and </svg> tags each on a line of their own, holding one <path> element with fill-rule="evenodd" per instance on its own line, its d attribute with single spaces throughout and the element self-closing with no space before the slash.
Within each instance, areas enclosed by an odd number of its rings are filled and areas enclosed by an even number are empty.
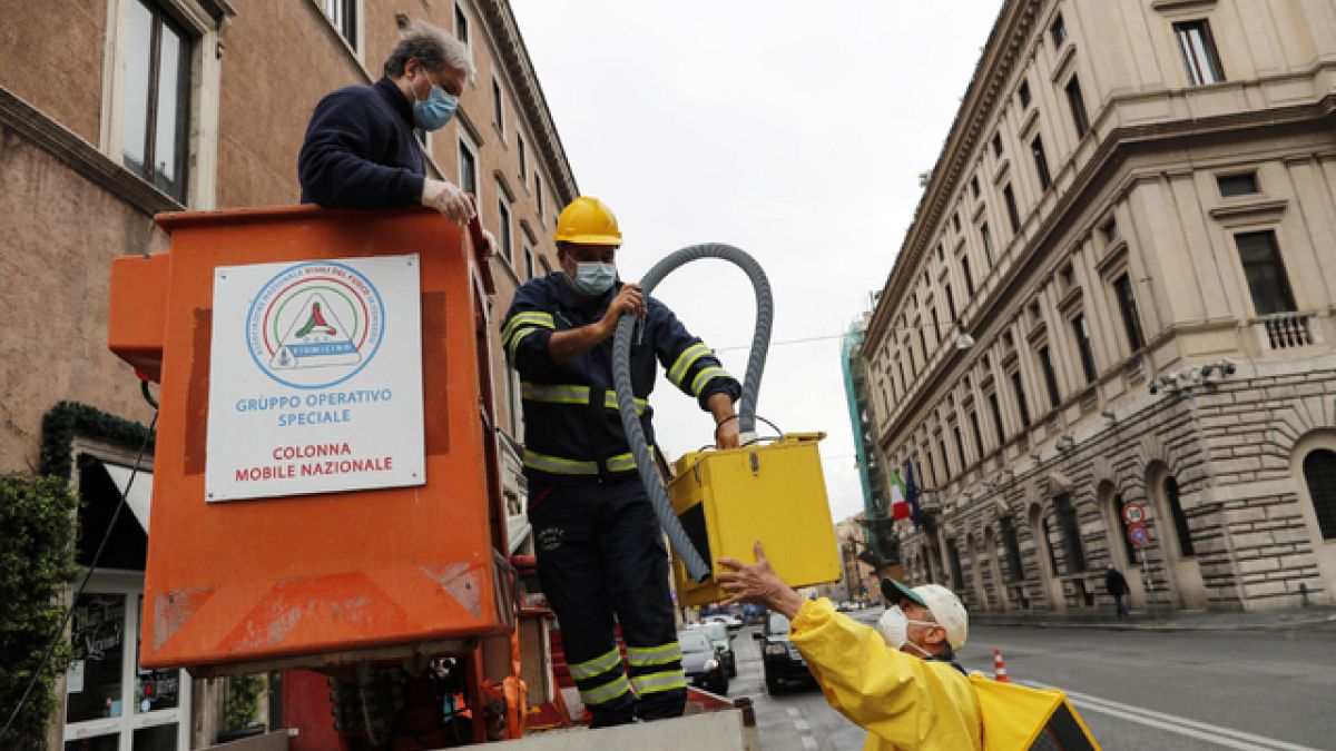
<svg viewBox="0 0 1336 751">
<path fill-rule="evenodd" d="M 461 230 L 425 210 L 240 210 L 158 222 L 171 234 L 168 258 L 118 259 L 111 315 L 114 343 L 134 345 L 122 357 L 152 362 L 142 342 L 162 341 L 143 664 L 319 665 L 506 632 L 513 604 L 494 552 L 494 436 L 480 414 L 480 401 L 489 404 L 477 329 L 486 311 Z M 215 267 L 407 253 L 421 257 L 428 484 L 206 502 Z M 136 291 L 144 285 L 166 293 Z"/>
</svg>

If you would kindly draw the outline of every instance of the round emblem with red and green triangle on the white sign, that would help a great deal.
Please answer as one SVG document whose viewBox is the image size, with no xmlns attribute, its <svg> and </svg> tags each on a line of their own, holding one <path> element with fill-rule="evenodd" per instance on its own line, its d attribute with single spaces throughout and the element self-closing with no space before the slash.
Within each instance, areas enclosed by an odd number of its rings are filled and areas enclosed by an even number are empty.
<svg viewBox="0 0 1336 751">
<path fill-rule="evenodd" d="M 274 381 L 297 389 L 351 378 L 375 357 L 383 334 L 381 294 L 359 271 L 333 262 L 279 271 L 246 317 L 251 359 Z"/>
</svg>

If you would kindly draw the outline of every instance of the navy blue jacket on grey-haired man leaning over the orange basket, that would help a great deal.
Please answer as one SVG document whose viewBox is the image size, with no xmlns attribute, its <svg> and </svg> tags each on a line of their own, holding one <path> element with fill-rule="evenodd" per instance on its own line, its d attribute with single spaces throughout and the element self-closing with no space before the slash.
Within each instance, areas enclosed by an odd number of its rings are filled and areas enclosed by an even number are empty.
<svg viewBox="0 0 1336 751">
<path fill-rule="evenodd" d="M 426 164 L 413 107 L 394 82 L 349 86 L 321 99 L 297 158 L 302 203 L 395 208 L 422 200 Z"/>
</svg>

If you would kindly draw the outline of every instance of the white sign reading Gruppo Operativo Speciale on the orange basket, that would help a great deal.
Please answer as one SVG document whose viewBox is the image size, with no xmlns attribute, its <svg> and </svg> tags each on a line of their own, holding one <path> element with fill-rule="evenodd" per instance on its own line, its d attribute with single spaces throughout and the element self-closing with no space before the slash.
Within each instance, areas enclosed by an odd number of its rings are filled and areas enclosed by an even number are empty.
<svg viewBox="0 0 1336 751">
<path fill-rule="evenodd" d="M 204 496 L 426 482 L 418 257 L 214 273 Z"/>
</svg>

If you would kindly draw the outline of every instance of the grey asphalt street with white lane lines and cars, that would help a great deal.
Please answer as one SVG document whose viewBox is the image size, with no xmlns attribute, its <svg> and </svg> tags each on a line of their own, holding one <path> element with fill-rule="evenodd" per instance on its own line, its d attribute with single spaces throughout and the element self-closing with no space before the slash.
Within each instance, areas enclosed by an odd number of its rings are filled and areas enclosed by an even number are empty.
<svg viewBox="0 0 1336 751">
<path fill-rule="evenodd" d="M 880 611 L 854 613 L 875 621 Z M 1336 631 L 1125 632 L 977 627 L 962 655 L 1013 682 L 1067 692 L 1106 750 L 1336 748 Z M 739 633 L 729 696 L 751 696 L 767 751 L 858 750 L 864 732 L 820 691 L 766 694 L 760 652 Z"/>
</svg>

